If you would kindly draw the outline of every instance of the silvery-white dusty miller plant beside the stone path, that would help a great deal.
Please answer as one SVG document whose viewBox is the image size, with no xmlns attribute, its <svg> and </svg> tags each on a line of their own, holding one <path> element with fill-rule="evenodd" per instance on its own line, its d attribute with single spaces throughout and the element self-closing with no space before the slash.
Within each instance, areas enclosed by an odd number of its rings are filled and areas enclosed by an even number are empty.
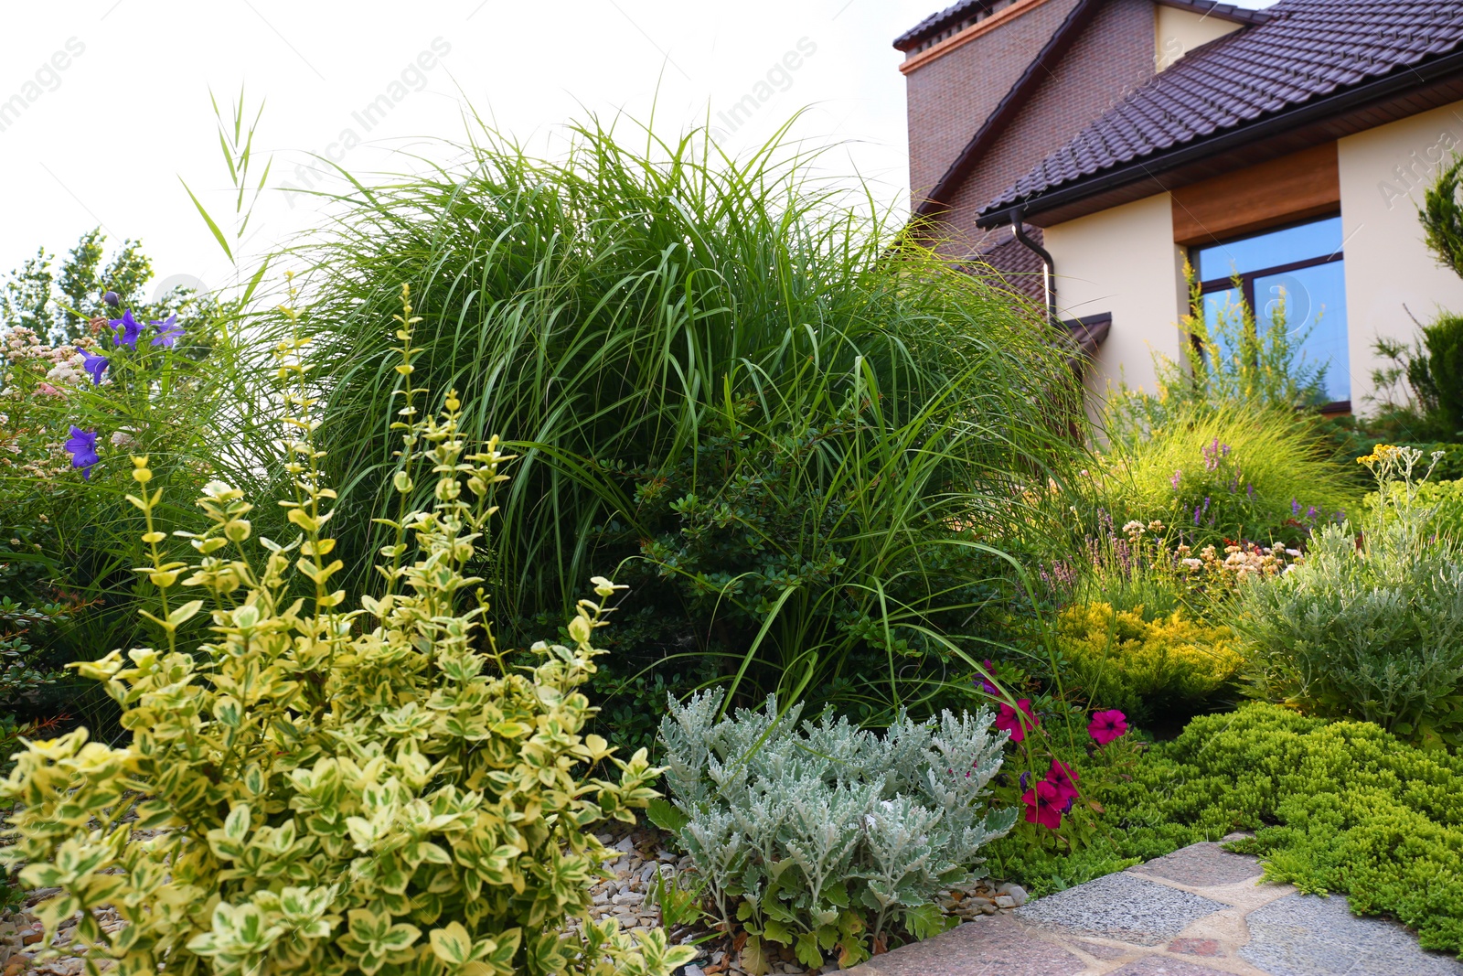
<svg viewBox="0 0 1463 976">
<path fill-rule="evenodd" d="M 746 928 L 749 972 L 767 972 L 765 942 L 808 966 L 837 947 L 847 966 L 894 925 L 941 931 L 933 896 L 982 876 L 982 844 L 1015 822 L 1014 809 L 986 811 L 1008 735 L 992 733 L 988 710 L 901 716 L 879 736 L 828 713 L 799 726 L 802 705 L 778 716 L 772 697 L 723 718 L 720 691 L 669 708 L 680 843 L 723 922 Z"/>
</svg>

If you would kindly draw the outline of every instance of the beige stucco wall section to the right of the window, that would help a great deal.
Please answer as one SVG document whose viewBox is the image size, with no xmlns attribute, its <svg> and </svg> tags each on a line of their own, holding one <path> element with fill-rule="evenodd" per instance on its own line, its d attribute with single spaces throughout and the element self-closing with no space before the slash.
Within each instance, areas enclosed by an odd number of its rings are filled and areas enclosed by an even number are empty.
<svg viewBox="0 0 1463 976">
<path fill-rule="evenodd" d="M 1463 102 L 1337 142 L 1356 413 L 1371 405 L 1371 372 L 1381 366 L 1371 348 L 1377 337 L 1410 339 L 1416 334 L 1412 316 L 1428 322 L 1440 309 L 1463 312 L 1463 279 L 1437 265 L 1418 224 L 1423 190 L 1460 145 Z"/>
</svg>

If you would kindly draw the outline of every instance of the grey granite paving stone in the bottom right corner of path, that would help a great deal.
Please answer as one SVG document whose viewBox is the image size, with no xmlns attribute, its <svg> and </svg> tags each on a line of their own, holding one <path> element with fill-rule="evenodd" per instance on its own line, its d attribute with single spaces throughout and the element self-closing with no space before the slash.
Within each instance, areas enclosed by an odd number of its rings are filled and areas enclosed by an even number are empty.
<svg viewBox="0 0 1463 976">
<path fill-rule="evenodd" d="M 1396 922 L 1356 917 L 1343 896 L 1292 894 L 1245 920 L 1239 957 L 1273 976 L 1463 976 L 1463 963 L 1425 951 Z"/>
</svg>

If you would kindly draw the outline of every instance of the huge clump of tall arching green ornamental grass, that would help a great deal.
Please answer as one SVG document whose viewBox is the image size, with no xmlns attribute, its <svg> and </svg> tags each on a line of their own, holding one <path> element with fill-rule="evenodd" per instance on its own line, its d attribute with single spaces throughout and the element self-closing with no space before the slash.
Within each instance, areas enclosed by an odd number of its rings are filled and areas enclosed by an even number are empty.
<svg viewBox="0 0 1463 976">
<path fill-rule="evenodd" d="M 786 130 L 736 154 L 617 124 L 571 126 L 552 159 L 473 132 L 459 165 L 353 183 L 301 241 L 347 572 L 394 505 L 383 323 L 407 279 L 424 385 L 459 391 L 468 433 L 519 438 L 477 568 L 499 626 L 537 634 L 626 562 L 620 677 L 740 673 L 891 717 L 958 670 L 948 644 L 976 650 L 1009 565 L 988 550 L 1028 527 L 1015 486 L 1077 454 L 1068 351 Z"/>
</svg>

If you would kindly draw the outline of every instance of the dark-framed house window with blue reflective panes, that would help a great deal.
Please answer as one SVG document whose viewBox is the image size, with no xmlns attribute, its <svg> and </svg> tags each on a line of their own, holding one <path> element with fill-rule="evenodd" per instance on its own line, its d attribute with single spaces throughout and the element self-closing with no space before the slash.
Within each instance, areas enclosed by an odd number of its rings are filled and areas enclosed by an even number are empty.
<svg viewBox="0 0 1463 976">
<path fill-rule="evenodd" d="M 1239 304 L 1233 275 L 1261 331 L 1270 328 L 1276 304 L 1285 299 L 1286 328 L 1299 341 L 1298 356 L 1325 364 L 1325 398 L 1333 410 L 1347 410 L 1352 397 L 1346 351 L 1346 278 L 1342 260 L 1342 218 L 1264 231 L 1194 249 L 1194 268 L 1210 322 Z"/>
</svg>

